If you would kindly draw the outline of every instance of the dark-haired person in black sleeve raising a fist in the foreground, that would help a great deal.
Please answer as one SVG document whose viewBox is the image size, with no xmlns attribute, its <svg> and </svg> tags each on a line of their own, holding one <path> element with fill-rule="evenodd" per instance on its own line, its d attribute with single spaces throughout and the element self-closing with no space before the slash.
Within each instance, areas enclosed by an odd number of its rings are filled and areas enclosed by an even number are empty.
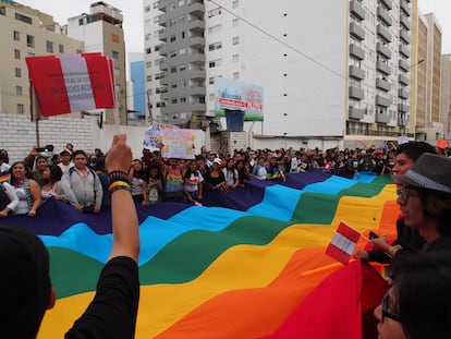
<svg viewBox="0 0 451 339">
<path fill-rule="evenodd" d="M 110 184 L 112 247 L 97 291 L 85 313 L 64 338 L 132 339 L 139 300 L 138 220 L 126 172 L 132 150 L 126 136 L 115 135 L 107 156 Z M 36 338 L 56 291 L 51 286 L 49 253 L 31 230 L 0 226 L 0 338 Z"/>
</svg>

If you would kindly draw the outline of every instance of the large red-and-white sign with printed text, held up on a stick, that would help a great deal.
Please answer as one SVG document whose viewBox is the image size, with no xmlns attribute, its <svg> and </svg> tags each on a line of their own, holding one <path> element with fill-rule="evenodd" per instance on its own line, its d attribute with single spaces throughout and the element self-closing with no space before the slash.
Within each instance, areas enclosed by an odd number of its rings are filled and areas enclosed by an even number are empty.
<svg viewBox="0 0 451 339">
<path fill-rule="evenodd" d="M 111 59 L 100 53 L 26 58 L 44 117 L 115 106 Z"/>
</svg>

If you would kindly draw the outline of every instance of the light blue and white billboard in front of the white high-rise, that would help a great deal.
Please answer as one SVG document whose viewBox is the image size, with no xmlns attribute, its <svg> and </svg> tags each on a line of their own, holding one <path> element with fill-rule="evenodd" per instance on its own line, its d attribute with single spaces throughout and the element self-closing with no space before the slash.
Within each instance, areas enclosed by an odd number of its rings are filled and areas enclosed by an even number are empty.
<svg viewBox="0 0 451 339">
<path fill-rule="evenodd" d="M 226 117 L 226 110 L 242 110 L 244 120 L 264 120 L 261 86 L 215 77 L 215 116 Z"/>
</svg>

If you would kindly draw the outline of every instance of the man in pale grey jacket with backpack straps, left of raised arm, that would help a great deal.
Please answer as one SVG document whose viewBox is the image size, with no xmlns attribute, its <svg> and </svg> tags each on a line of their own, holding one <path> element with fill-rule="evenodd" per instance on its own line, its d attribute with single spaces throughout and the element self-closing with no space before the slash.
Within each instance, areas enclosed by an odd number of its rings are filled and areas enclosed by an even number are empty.
<svg viewBox="0 0 451 339">
<path fill-rule="evenodd" d="M 98 214 L 101 207 L 103 189 L 96 172 L 87 167 L 84 150 L 75 150 L 74 167 L 61 179 L 61 185 L 68 202 L 82 213 Z"/>
</svg>

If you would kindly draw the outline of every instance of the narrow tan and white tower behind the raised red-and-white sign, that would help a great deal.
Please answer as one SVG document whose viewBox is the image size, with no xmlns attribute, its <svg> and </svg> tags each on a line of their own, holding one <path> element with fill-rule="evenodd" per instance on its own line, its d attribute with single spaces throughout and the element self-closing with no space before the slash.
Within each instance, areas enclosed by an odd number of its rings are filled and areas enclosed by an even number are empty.
<svg viewBox="0 0 451 339">
<path fill-rule="evenodd" d="M 68 35 L 85 43 L 86 52 L 101 52 L 113 59 L 119 123 L 127 124 L 125 44 L 122 11 L 103 2 L 90 4 L 89 14 L 68 20 Z M 112 109 L 107 109 L 106 122 L 114 123 Z"/>
</svg>

